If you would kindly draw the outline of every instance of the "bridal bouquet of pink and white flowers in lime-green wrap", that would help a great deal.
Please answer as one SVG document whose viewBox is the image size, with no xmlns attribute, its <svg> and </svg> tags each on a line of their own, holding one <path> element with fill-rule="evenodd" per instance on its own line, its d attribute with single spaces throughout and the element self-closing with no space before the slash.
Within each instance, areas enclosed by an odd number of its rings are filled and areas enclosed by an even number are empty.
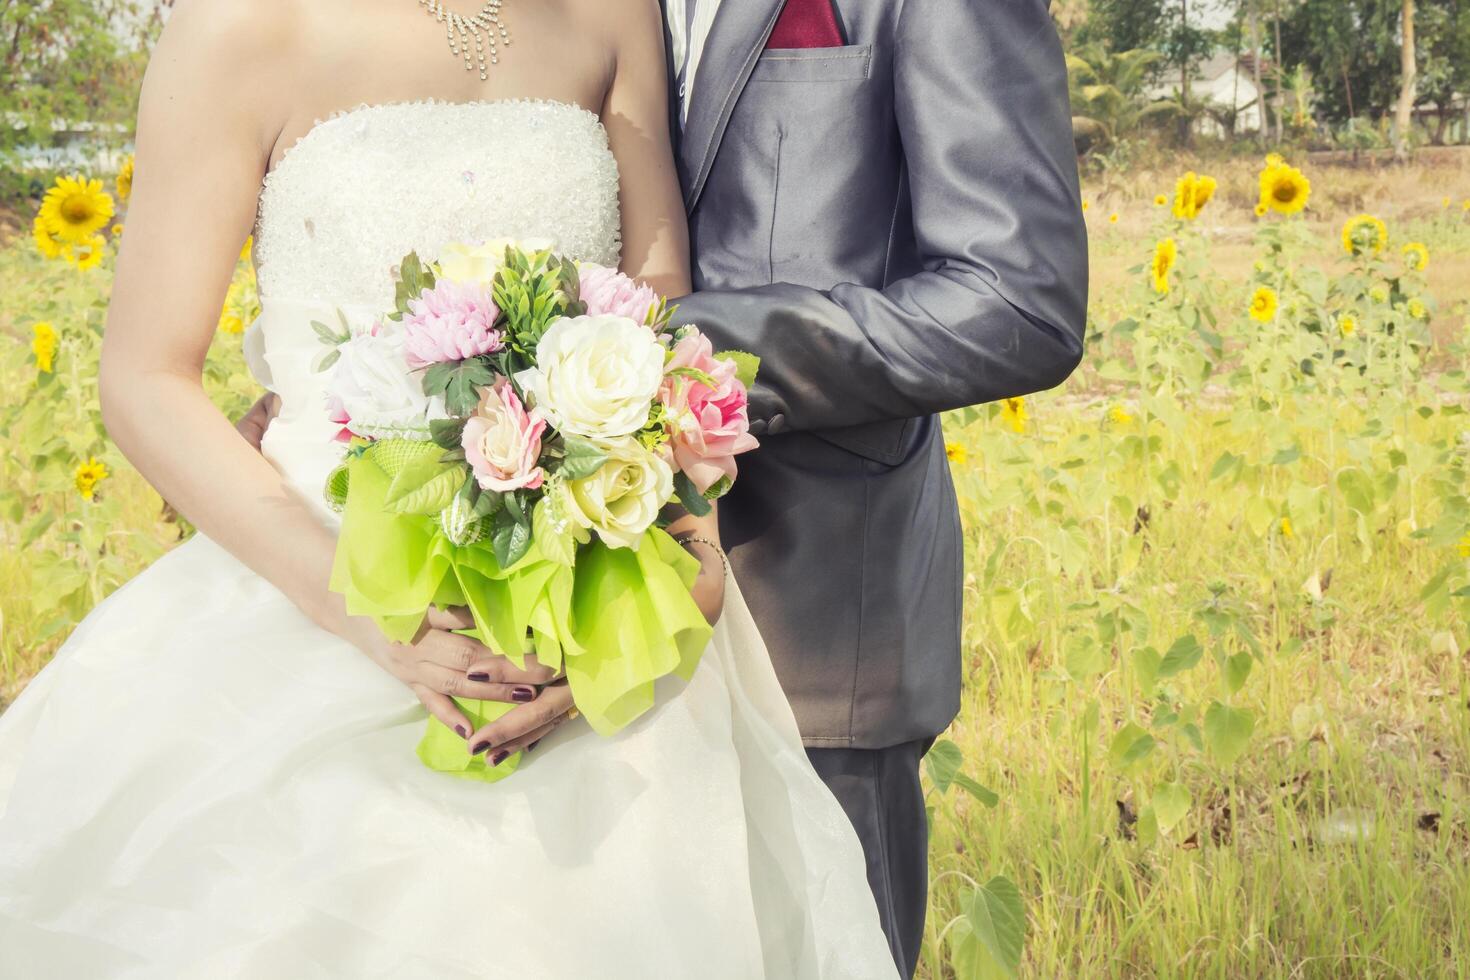
<svg viewBox="0 0 1470 980">
<path fill-rule="evenodd" d="M 563 670 L 592 729 L 616 732 L 710 639 L 698 561 L 660 511 L 729 491 L 756 447 L 757 360 L 670 329 L 667 301 L 623 273 L 532 244 L 409 254 L 395 295 L 368 331 L 313 323 L 348 447 L 326 480 L 332 589 L 400 642 L 431 604 L 467 607 L 476 639 Z M 476 727 L 513 707 L 459 704 Z M 485 780 L 519 763 L 488 765 L 434 718 L 419 758 Z"/>
</svg>

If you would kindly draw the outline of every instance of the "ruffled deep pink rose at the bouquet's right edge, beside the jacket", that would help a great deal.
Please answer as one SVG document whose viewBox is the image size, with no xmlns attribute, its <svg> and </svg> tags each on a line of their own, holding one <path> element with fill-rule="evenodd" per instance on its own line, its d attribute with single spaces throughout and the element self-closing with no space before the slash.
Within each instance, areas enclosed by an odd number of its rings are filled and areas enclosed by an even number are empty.
<svg viewBox="0 0 1470 980">
<path fill-rule="evenodd" d="M 678 367 L 704 372 L 714 386 L 672 373 Z M 760 445 L 750 433 L 745 385 L 735 378 L 735 361 L 716 359 L 710 339 L 691 331 L 673 345 L 664 370 L 659 401 L 673 429 L 669 448 L 675 466 L 701 494 L 722 479 L 734 480 L 735 457 Z"/>
</svg>

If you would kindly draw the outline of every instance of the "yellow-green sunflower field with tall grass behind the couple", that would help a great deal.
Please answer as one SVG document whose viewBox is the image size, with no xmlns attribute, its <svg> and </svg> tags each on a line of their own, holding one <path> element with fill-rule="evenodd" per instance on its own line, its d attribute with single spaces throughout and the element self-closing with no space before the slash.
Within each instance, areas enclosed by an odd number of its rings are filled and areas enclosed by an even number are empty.
<svg viewBox="0 0 1470 980">
<path fill-rule="evenodd" d="M 1470 179 L 1407 173 L 1091 184 L 1083 367 L 945 419 L 967 688 L 920 976 L 1470 971 Z M 128 178 L 0 244 L 0 708 L 190 533 L 97 414 Z M 256 309 L 245 251 L 232 416 Z"/>
</svg>

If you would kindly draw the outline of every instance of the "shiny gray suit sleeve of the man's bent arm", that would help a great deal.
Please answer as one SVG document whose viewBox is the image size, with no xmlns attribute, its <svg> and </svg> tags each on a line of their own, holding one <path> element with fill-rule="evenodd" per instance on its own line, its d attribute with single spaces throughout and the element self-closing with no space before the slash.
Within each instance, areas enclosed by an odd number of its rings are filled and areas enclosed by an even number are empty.
<svg viewBox="0 0 1470 980">
<path fill-rule="evenodd" d="M 1082 359 L 1086 228 L 1045 0 L 907 0 L 894 87 L 923 270 L 882 289 L 775 284 L 681 301 L 678 320 L 716 348 L 761 357 L 756 432 L 1023 395 Z"/>
</svg>

